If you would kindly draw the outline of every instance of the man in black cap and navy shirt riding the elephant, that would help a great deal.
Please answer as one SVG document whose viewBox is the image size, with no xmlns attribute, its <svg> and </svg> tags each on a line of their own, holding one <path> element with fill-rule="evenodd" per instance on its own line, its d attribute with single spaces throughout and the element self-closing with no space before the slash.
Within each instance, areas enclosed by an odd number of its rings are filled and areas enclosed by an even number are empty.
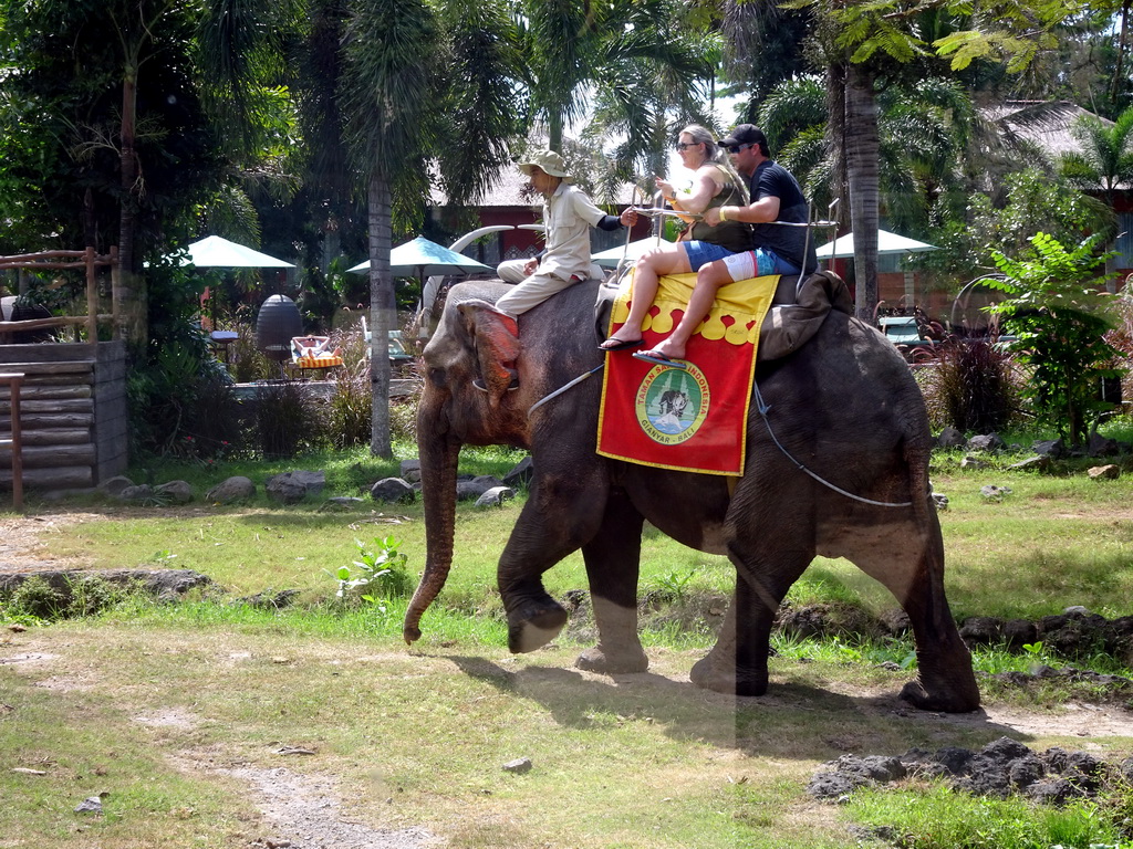
<svg viewBox="0 0 1133 849">
<path fill-rule="evenodd" d="M 751 224 L 752 250 L 700 266 L 697 284 L 680 324 L 651 351 L 634 354 L 640 359 L 682 359 L 689 338 L 708 315 L 721 286 L 766 274 L 798 275 L 803 269 L 810 274 L 818 268 L 813 240 L 807 238 L 807 199 L 791 172 L 772 161 L 763 130 L 741 123 L 721 140 L 719 146 L 732 155 L 735 170 L 748 178 L 751 203 L 748 206 L 710 207 L 705 211 L 704 221 L 710 226 L 722 221 Z"/>
</svg>

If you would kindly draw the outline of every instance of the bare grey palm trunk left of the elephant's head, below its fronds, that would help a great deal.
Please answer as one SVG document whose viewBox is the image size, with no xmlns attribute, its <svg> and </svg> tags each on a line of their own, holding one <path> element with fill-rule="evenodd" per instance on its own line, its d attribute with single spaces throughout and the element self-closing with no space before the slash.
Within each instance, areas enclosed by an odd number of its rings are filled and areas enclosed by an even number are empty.
<svg viewBox="0 0 1133 849">
<path fill-rule="evenodd" d="M 370 404 L 369 452 L 376 457 L 393 456 L 390 439 L 390 331 L 397 321 L 393 278 L 390 276 L 390 181 L 384 174 L 369 178 L 369 381 L 374 393 Z"/>
</svg>

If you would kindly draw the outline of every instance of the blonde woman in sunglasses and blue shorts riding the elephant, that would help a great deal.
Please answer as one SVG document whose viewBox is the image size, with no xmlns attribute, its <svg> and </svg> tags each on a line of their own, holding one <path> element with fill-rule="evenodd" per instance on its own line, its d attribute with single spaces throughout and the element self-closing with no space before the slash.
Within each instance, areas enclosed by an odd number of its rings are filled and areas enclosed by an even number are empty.
<svg viewBox="0 0 1133 849">
<path fill-rule="evenodd" d="M 692 172 L 691 185 L 684 191 L 675 191 L 672 183 L 658 177 L 657 188 L 674 209 L 693 213 L 696 218 L 680 241 L 662 245 L 637 261 L 630 315 L 599 345 L 603 351 L 622 351 L 641 344 L 641 323 L 657 297 L 663 275 L 695 272 L 707 263 L 751 250 L 750 225 L 724 221 L 710 226 L 700 220 L 699 214 L 705 209 L 748 204 L 746 181 L 732 169 L 712 132 L 699 125 L 689 125 L 678 136 L 676 151 L 684 168 Z"/>
</svg>

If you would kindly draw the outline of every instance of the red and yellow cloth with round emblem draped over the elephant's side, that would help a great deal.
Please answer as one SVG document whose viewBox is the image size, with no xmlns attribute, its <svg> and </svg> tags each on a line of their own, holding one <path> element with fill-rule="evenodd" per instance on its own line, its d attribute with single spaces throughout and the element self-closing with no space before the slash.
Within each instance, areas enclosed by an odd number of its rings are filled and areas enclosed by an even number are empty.
<svg viewBox="0 0 1133 849">
<path fill-rule="evenodd" d="M 661 278 L 638 351 L 672 332 L 696 281 L 696 274 Z M 685 369 L 653 366 L 629 351 L 606 354 L 598 454 L 662 469 L 742 474 L 759 326 L 777 284 L 778 276 L 766 276 L 721 289 L 680 360 Z M 629 300 L 627 284 L 614 302 L 611 334 L 629 317 Z"/>
</svg>

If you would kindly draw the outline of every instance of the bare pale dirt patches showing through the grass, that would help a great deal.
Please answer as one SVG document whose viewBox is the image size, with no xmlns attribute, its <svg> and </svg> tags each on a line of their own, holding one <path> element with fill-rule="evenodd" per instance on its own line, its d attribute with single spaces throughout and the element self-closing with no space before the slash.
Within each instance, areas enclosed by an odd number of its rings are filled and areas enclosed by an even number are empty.
<svg viewBox="0 0 1133 849">
<path fill-rule="evenodd" d="M 60 561 L 50 556 L 51 538 L 66 533 L 68 528 L 85 522 L 107 521 L 96 513 L 58 513 L 48 516 L 9 517 L 0 521 L 0 573 L 41 569 L 82 568 L 88 564 L 74 560 Z M 0 649 L 0 666 L 20 667 L 19 671 L 46 674 L 50 680 L 51 654 L 45 652 L 7 657 Z M 44 683 L 44 686 L 46 683 Z M 846 693 L 851 696 L 876 696 L 866 691 Z M 776 696 L 768 696 L 768 702 Z M 1099 748 L 1091 739 L 1127 737 L 1133 739 L 1133 712 L 1116 704 L 1068 704 L 1058 713 L 1029 712 L 1011 706 L 990 705 L 974 714 L 925 714 L 897 706 L 894 701 L 870 700 L 869 710 L 896 714 L 901 721 L 946 722 L 957 727 L 1000 726 L 1029 737 L 1076 736 L 1082 738 L 1082 749 Z M 785 705 L 786 706 L 786 705 Z M 135 721 L 147 724 L 194 723 L 187 715 L 144 715 Z M 259 770 L 225 766 L 223 758 L 213 760 L 204 753 L 189 755 L 179 762 L 179 769 L 223 773 L 240 779 L 247 787 L 247 798 L 262 816 L 270 837 L 262 837 L 250 846 L 289 847 L 291 849 L 418 849 L 443 843 L 441 838 L 423 829 L 373 829 L 343 817 L 343 791 L 329 778 L 312 779 L 286 767 Z"/>
</svg>

